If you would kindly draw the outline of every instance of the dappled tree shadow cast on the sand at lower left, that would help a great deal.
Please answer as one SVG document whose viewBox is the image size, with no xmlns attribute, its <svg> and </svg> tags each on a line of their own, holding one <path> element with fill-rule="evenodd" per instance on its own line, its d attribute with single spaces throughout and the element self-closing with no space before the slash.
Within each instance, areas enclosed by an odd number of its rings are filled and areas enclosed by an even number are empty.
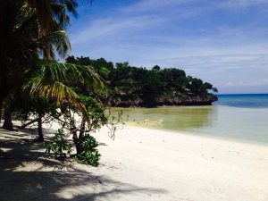
<svg viewBox="0 0 268 201">
<path fill-rule="evenodd" d="M 126 195 L 163 194 L 161 188 L 111 180 L 73 163 L 47 158 L 43 144 L 26 133 L 0 130 L 0 199 L 10 200 L 114 200 Z M 84 170 L 86 169 L 86 170 Z"/>
</svg>

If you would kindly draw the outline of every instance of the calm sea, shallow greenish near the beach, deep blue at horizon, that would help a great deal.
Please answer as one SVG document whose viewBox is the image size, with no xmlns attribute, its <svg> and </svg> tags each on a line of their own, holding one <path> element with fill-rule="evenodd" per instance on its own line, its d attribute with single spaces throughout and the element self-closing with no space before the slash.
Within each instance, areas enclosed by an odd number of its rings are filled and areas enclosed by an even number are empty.
<svg viewBox="0 0 268 201">
<path fill-rule="evenodd" d="M 113 108 L 127 125 L 268 146 L 268 94 L 218 95 L 207 106 Z"/>
</svg>

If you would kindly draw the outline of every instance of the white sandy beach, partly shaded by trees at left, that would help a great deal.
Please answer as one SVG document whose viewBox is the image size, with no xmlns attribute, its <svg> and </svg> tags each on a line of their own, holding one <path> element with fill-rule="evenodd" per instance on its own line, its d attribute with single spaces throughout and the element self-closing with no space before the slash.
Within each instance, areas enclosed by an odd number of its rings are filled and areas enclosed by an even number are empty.
<svg viewBox="0 0 268 201">
<path fill-rule="evenodd" d="M 103 129 L 93 168 L 48 160 L 29 134 L 0 132 L 1 200 L 268 200 L 267 146 L 130 126 L 113 140 Z"/>
</svg>

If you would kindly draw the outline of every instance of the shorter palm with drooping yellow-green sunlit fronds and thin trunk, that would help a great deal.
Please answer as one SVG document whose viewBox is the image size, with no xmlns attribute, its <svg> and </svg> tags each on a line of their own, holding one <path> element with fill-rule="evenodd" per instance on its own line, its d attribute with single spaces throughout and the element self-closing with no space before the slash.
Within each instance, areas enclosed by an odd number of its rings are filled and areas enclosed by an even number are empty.
<svg viewBox="0 0 268 201">
<path fill-rule="evenodd" d="M 23 91 L 31 99 L 45 98 L 54 100 L 57 105 L 71 104 L 89 121 L 88 112 L 80 96 L 71 86 L 82 85 L 84 88 L 102 88 L 103 83 L 90 66 L 70 63 L 49 63 L 41 65 L 34 75 L 23 85 Z M 38 113 L 38 135 L 43 141 L 42 117 Z"/>
</svg>

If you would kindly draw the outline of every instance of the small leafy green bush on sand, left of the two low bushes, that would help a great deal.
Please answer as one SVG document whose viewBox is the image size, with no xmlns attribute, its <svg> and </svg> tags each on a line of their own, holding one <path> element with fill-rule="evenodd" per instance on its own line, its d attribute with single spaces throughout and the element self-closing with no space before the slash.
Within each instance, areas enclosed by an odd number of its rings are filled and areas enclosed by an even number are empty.
<svg viewBox="0 0 268 201">
<path fill-rule="evenodd" d="M 63 129 L 57 130 L 51 142 L 46 143 L 46 153 L 54 153 L 57 160 L 65 160 L 71 154 L 71 143 L 64 135 Z"/>
</svg>

